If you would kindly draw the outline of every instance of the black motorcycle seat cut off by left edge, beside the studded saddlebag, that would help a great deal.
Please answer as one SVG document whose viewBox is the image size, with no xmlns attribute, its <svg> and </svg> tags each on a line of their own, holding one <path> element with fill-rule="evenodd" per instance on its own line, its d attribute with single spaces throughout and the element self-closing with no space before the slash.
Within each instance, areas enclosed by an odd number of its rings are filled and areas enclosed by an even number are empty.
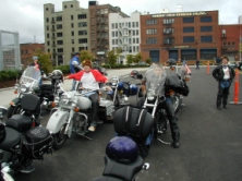
<svg viewBox="0 0 242 181">
<path fill-rule="evenodd" d="M 0 144 L 0 149 L 10 150 L 10 148 L 14 147 L 21 141 L 21 135 L 16 130 L 5 126 L 5 138 Z"/>
</svg>

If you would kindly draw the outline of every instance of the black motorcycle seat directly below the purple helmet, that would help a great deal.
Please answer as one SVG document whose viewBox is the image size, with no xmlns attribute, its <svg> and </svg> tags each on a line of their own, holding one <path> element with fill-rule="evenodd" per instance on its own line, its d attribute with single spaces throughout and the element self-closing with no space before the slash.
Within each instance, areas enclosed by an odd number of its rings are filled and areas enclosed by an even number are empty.
<svg viewBox="0 0 242 181">
<path fill-rule="evenodd" d="M 132 180 L 134 176 L 141 171 L 143 164 L 143 158 L 141 156 L 138 156 L 134 162 L 121 164 L 106 155 L 106 167 L 102 176 L 120 178 L 121 180 Z"/>
</svg>

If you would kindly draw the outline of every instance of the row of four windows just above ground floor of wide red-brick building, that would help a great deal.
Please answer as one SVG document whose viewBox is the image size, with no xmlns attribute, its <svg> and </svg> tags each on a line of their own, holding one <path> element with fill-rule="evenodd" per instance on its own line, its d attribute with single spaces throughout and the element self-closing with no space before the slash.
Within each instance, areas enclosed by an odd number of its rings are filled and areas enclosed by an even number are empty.
<svg viewBox="0 0 242 181">
<path fill-rule="evenodd" d="M 173 44 L 174 38 L 173 37 L 165 37 L 164 44 Z M 195 43 L 194 36 L 184 36 L 183 43 Z M 201 43 L 213 43 L 213 36 L 201 36 Z M 157 44 L 157 38 L 146 38 L 146 44 Z"/>
</svg>

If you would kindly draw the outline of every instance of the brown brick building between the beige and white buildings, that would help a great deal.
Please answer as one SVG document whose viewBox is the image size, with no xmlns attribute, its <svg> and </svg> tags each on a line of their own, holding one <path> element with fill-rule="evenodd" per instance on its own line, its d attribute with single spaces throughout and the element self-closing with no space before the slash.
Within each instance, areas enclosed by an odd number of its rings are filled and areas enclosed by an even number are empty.
<svg viewBox="0 0 242 181">
<path fill-rule="evenodd" d="M 109 13 L 119 13 L 121 17 L 129 17 L 121 12 L 119 7 L 110 4 L 98 4 L 97 1 L 89 1 L 89 39 L 90 51 L 98 62 L 107 61 L 109 48 Z"/>
</svg>

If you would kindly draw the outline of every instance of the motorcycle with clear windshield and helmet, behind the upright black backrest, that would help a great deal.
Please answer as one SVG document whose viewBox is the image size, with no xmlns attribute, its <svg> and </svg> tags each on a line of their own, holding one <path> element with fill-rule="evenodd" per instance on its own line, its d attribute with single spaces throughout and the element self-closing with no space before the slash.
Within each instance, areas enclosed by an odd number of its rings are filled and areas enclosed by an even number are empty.
<svg viewBox="0 0 242 181">
<path fill-rule="evenodd" d="M 35 94 L 40 98 L 40 109 L 51 109 L 51 104 L 53 102 L 55 95 L 58 94 L 60 89 L 60 83 L 62 82 L 62 72 L 60 70 L 55 70 L 47 77 L 51 81 L 51 84 L 40 84 L 41 73 L 39 70 L 36 70 L 34 67 L 28 67 L 22 74 L 20 83 L 15 84 L 14 93 L 17 94 L 17 97 L 10 102 L 8 109 L 8 118 L 11 118 L 15 113 L 20 113 L 22 108 L 20 101 L 23 95 L 25 94 Z"/>
</svg>

